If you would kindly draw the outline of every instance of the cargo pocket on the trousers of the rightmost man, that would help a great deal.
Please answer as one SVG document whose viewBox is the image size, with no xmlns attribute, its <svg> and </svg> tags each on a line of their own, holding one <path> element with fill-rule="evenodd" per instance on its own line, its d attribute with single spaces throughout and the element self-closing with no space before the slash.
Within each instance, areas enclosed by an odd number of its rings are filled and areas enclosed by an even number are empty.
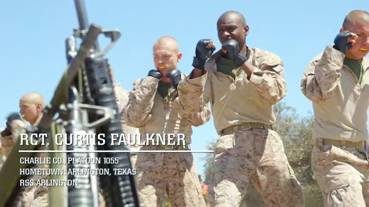
<svg viewBox="0 0 369 207">
<path fill-rule="evenodd" d="M 327 203 L 330 204 L 330 206 L 356 206 L 352 187 L 349 184 L 346 184 L 335 188 L 329 195 L 327 195 Z"/>
</svg>

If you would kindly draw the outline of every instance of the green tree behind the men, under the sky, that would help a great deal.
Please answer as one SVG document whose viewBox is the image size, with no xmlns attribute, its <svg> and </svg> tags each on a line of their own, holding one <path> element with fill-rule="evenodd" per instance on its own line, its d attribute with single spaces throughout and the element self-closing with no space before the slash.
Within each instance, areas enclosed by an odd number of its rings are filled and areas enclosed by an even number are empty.
<svg viewBox="0 0 369 207">
<path fill-rule="evenodd" d="M 311 170 L 311 152 L 313 150 L 313 127 L 314 116 L 300 116 L 296 110 L 279 102 L 273 106 L 276 116 L 276 123 L 273 129 L 283 140 L 284 151 L 289 163 L 296 174 L 297 179 L 303 187 L 306 206 L 323 207 L 323 198 L 320 187 L 314 180 Z M 214 150 L 216 140 L 208 143 L 207 148 Z M 213 175 L 214 155 L 206 154 L 204 159 L 205 183 L 208 183 Z M 247 195 L 244 197 L 244 206 L 260 207 L 263 206 L 261 194 L 252 183 L 249 183 Z"/>
</svg>

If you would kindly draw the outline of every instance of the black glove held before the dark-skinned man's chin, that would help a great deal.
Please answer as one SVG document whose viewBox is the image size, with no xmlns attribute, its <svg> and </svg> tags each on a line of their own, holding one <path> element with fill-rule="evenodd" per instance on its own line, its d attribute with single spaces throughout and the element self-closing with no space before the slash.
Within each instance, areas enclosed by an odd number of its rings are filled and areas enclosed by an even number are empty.
<svg viewBox="0 0 369 207">
<path fill-rule="evenodd" d="M 238 42 L 234 39 L 230 39 L 224 42 L 224 44 L 222 45 L 222 50 L 225 56 L 228 59 L 233 60 L 234 64 L 237 67 L 242 66 L 242 64 L 244 64 L 244 62 L 246 62 L 247 60 L 246 56 L 239 54 L 239 45 Z"/>
</svg>

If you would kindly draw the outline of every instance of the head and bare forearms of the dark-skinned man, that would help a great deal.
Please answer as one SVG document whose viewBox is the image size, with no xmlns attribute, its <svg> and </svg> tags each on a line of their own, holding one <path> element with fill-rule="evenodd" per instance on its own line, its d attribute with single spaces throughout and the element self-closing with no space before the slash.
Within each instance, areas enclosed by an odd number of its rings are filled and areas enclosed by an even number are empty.
<svg viewBox="0 0 369 207">
<path fill-rule="evenodd" d="M 226 41 L 234 39 L 238 42 L 240 53 L 246 53 L 246 36 L 249 33 L 249 26 L 246 25 L 244 16 L 235 11 L 228 11 L 221 15 L 217 21 L 218 39 L 223 45 Z M 212 41 L 210 41 L 212 45 Z M 221 52 L 221 51 L 219 51 Z M 241 65 L 241 68 L 247 74 L 249 79 L 255 67 L 247 61 Z M 200 77 L 204 74 L 204 70 L 194 68 L 192 78 Z"/>
</svg>

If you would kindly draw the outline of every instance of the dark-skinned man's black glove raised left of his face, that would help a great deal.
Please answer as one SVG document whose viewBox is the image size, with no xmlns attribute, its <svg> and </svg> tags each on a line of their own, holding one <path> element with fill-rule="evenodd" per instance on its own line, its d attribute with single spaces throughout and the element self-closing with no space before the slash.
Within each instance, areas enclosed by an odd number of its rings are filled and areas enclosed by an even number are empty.
<svg viewBox="0 0 369 207">
<path fill-rule="evenodd" d="M 211 39 L 200 39 L 197 42 L 195 57 L 193 57 L 192 66 L 197 69 L 204 70 L 206 60 L 213 55 L 215 46 Z"/>
</svg>

